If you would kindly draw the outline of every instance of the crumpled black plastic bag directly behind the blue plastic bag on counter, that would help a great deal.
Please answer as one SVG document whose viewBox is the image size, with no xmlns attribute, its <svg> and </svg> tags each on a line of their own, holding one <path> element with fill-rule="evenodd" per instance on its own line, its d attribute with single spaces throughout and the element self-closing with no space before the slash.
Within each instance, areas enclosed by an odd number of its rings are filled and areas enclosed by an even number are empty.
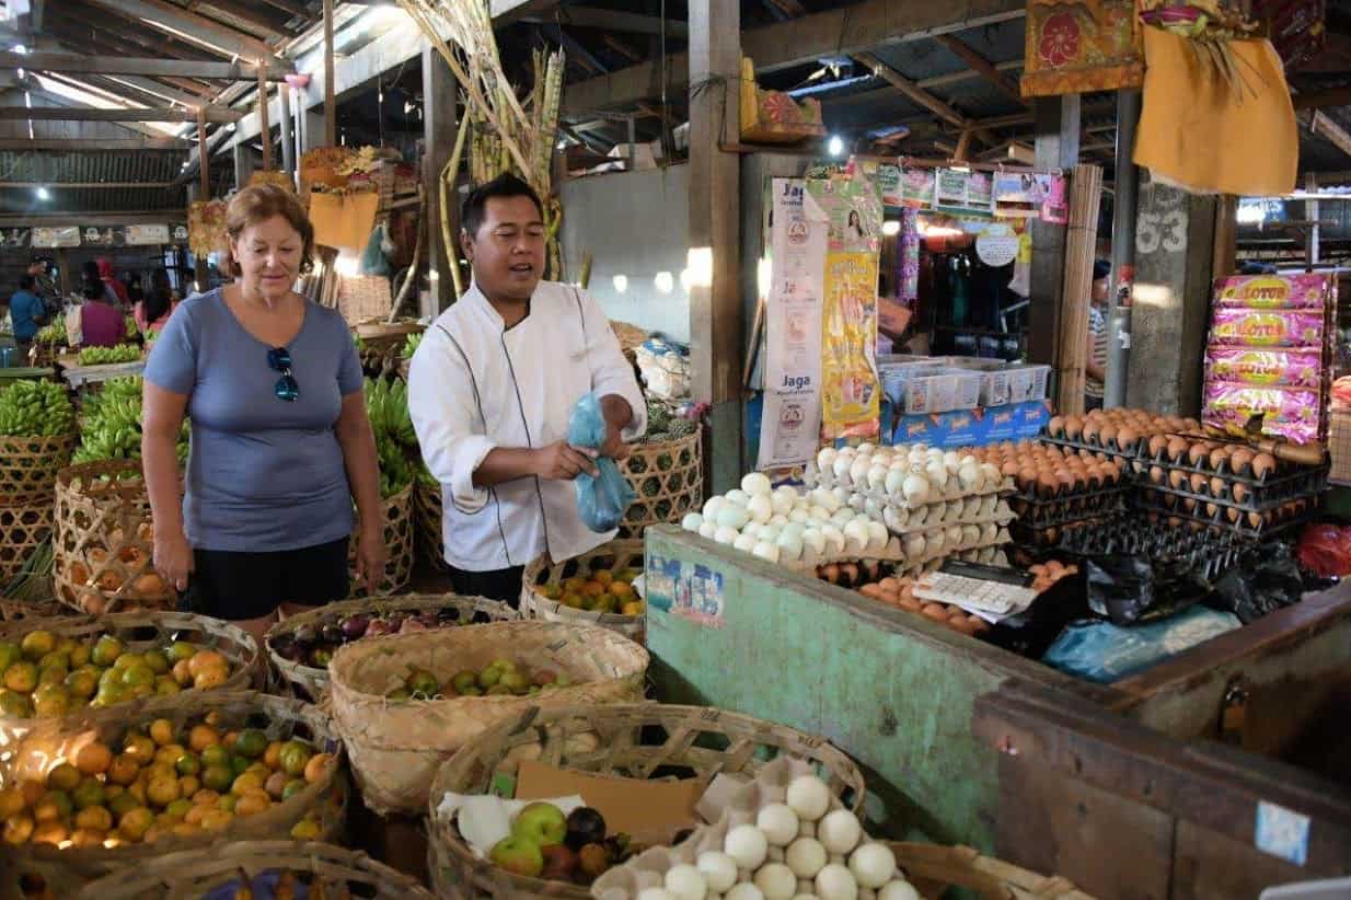
<svg viewBox="0 0 1351 900">
<path fill-rule="evenodd" d="M 1089 609 L 1119 626 L 1166 619 L 1210 593 L 1178 559 L 1097 557 L 1086 565 Z"/>
</svg>

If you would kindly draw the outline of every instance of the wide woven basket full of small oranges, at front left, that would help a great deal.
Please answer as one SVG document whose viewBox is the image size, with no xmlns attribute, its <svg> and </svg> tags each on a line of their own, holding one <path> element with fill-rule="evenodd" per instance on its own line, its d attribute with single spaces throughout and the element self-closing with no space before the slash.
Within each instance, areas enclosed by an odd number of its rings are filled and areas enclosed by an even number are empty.
<svg viewBox="0 0 1351 900">
<path fill-rule="evenodd" d="M 236 841 L 288 838 L 292 827 L 307 815 L 319 820 L 323 841 L 340 836 L 347 808 L 347 782 L 342 768 L 342 741 L 328 718 L 299 700 L 269 697 L 253 691 L 151 697 L 92 712 L 74 727 L 68 722 L 43 723 L 24 738 L 15 758 L 0 770 L 0 784 L 45 778 L 59 762 L 73 758 L 91 741 L 112 746 L 130 728 L 155 719 L 168 719 L 176 730 L 181 730 L 209 712 L 218 714 L 223 728 L 261 728 L 270 741 L 305 739 L 315 749 L 331 753 L 338 765 L 328 766 L 316 781 L 286 800 L 274 803 L 263 812 L 236 818 L 219 831 L 190 836 L 161 835 L 150 843 L 115 847 L 61 850 L 51 845 L 0 843 L 0 896 L 18 896 L 22 880 L 28 885 L 34 881 L 45 884 L 50 892 L 46 896 L 69 897 L 95 878 L 139 869 L 170 853 L 208 847 L 215 851 Z"/>
</svg>

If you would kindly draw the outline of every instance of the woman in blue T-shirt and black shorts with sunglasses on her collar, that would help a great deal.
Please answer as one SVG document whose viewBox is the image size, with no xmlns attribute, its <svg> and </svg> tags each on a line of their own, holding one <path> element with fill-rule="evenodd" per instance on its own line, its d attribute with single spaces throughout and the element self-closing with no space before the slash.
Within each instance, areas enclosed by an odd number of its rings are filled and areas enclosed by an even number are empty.
<svg viewBox="0 0 1351 900">
<path fill-rule="evenodd" d="M 145 373 L 142 457 L 155 569 L 185 605 L 258 635 L 277 609 L 347 596 L 386 557 L 376 441 L 342 316 L 292 291 L 313 227 L 289 191 L 245 188 L 226 214 L 234 284 L 169 318 Z M 192 419 L 186 496 L 174 443 Z"/>
</svg>

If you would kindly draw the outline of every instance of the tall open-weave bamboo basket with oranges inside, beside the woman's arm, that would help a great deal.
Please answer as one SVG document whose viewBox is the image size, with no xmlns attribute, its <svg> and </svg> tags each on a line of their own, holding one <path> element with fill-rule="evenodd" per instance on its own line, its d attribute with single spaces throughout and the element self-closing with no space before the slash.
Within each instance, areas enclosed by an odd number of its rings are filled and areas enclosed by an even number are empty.
<svg viewBox="0 0 1351 900">
<path fill-rule="evenodd" d="M 154 570 L 139 461 L 89 462 L 57 476 L 53 577 L 58 600 L 93 615 L 173 608 L 173 591 Z"/>
</svg>

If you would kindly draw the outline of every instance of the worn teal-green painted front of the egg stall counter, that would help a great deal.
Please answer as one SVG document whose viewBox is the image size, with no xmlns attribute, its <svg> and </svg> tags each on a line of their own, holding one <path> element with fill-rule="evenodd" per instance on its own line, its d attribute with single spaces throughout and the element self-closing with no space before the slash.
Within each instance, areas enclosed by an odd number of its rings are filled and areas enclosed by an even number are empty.
<svg viewBox="0 0 1351 900">
<path fill-rule="evenodd" d="M 896 838 L 993 850 L 997 753 L 971 735 L 975 697 L 1011 677 L 1116 696 L 674 528 L 648 528 L 646 585 L 658 697 L 824 735 Z"/>
</svg>

